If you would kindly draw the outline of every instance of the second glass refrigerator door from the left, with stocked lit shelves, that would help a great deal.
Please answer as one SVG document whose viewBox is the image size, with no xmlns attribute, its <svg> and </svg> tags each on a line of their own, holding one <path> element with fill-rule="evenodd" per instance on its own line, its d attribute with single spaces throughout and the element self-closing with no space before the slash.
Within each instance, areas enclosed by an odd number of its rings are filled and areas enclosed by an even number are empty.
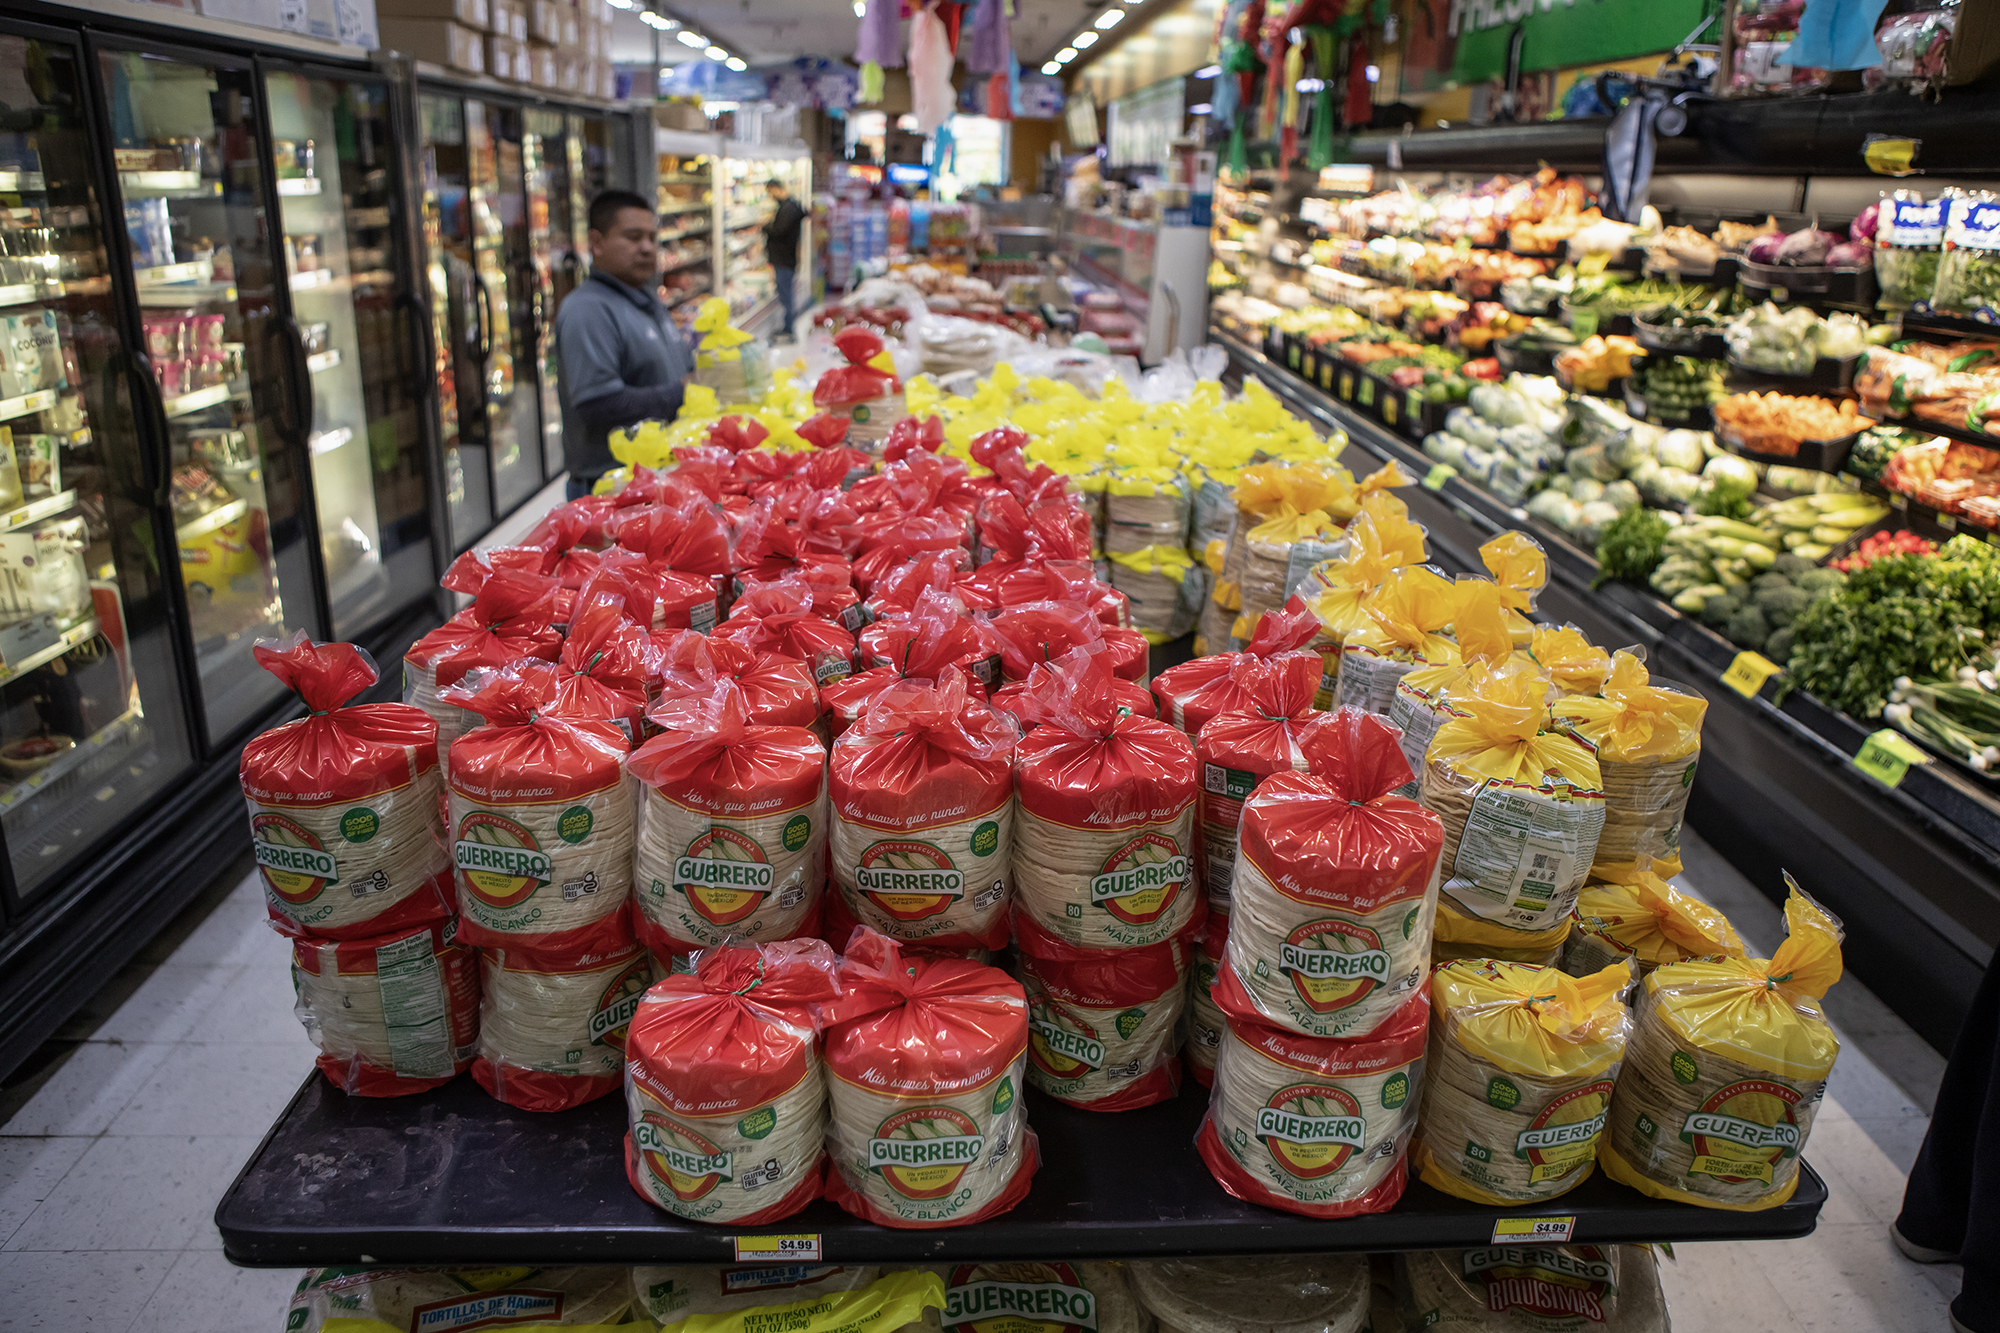
<svg viewBox="0 0 2000 1333">
<path fill-rule="evenodd" d="M 132 272 L 172 444 L 170 502 L 210 745 L 284 695 L 258 638 L 318 630 L 300 460 L 312 386 L 276 284 L 320 282 L 318 242 L 264 214 L 270 150 L 248 68 L 100 54 Z"/>
</svg>

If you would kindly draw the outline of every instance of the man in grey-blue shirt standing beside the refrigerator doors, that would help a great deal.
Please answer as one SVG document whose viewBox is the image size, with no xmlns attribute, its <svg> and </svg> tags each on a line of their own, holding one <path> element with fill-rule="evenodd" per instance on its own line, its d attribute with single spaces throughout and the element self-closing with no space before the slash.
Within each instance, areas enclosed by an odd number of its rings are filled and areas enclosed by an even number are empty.
<svg viewBox="0 0 2000 1333">
<path fill-rule="evenodd" d="M 610 432 L 672 420 L 694 352 L 660 304 L 660 220 L 644 198 L 604 190 L 590 200 L 590 280 L 556 310 L 556 380 L 568 494 L 590 494 L 618 466 Z"/>
</svg>

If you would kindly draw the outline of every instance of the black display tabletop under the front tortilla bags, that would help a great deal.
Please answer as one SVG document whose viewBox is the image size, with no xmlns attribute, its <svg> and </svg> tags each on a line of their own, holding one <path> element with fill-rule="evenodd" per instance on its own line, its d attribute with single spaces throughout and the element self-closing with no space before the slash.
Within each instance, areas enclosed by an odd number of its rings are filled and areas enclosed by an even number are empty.
<svg viewBox="0 0 2000 1333">
<path fill-rule="evenodd" d="M 1042 1165 L 1012 1211 L 904 1231 L 824 1199 L 764 1227 L 686 1223 L 624 1175 L 624 1097 L 516 1111 L 458 1077 L 412 1097 L 348 1097 L 312 1073 L 216 1207 L 234 1263 L 730 1263 L 744 1235 L 818 1235 L 828 1263 L 1136 1259 L 1174 1255 L 1472 1249 L 1502 1217 L 1572 1217 L 1582 1243 L 1810 1235 L 1826 1185 L 1800 1167 L 1792 1199 L 1730 1213 L 1648 1199 L 1602 1173 L 1548 1205 L 1492 1209 L 1416 1181 L 1388 1213 L 1312 1219 L 1222 1193 L 1194 1151 L 1208 1089 L 1116 1115 L 1028 1093 Z"/>
</svg>

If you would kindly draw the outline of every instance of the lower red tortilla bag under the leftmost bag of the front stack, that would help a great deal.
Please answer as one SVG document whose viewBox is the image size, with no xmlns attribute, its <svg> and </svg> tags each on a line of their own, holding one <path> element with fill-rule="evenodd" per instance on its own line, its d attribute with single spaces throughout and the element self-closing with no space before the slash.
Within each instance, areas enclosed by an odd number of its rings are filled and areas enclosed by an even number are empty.
<svg viewBox="0 0 2000 1333">
<path fill-rule="evenodd" d="M 434 1089 L 472 1063 L 480 973 L 456 921 L 376 939 L 292 941 L 296 1013 L 350 1097 Z"/>
</svg>

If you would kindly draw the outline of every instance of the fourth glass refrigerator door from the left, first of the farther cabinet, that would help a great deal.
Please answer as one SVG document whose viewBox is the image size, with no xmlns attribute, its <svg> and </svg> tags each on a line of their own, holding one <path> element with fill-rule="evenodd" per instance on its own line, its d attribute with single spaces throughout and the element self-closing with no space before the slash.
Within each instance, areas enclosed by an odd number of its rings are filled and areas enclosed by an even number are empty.
<svg viewBox="0 0 2000 1333">
<path fill-rule="evenodd" d="M 424 278 L 430 302 L 430 370 L 438 394 L 438 442 L 444 450 L 444 504 L 452 552 L 494 524 L 492 470 L 486 466 L 486 306 L 478 298 L 472 262 L 472 158 L 466 144 L 466 104 L 452 96 L 418 100 L 424 146 Z"/>
</svg>

